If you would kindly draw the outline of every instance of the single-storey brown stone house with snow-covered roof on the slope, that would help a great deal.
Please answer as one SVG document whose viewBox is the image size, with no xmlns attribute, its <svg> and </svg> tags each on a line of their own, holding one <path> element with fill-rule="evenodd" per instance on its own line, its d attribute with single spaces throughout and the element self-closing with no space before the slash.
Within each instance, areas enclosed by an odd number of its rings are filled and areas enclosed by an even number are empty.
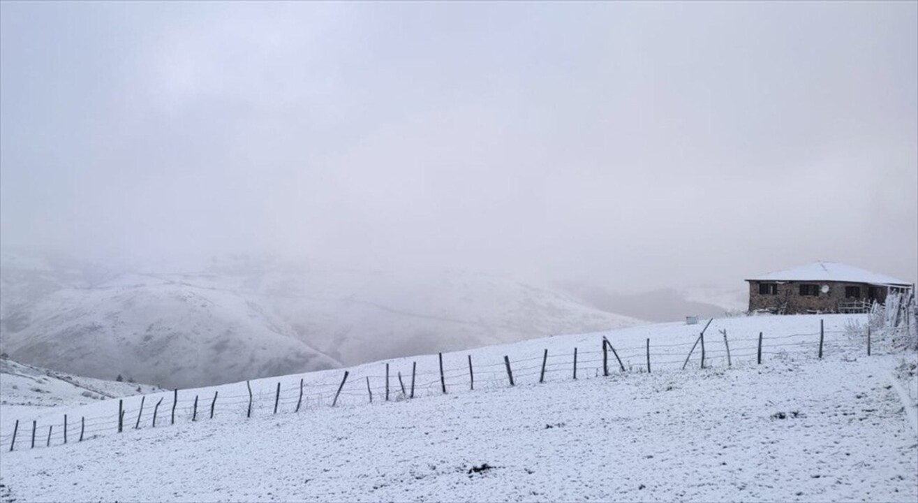
<svg viewBox="0 0 918 503">
<path fill-rule="evenodd" d="M 912 285 L 845 263 L 815 262 L 747 279 L 749 311 L 776 314 L 866 312 Z"/>
</svg>

